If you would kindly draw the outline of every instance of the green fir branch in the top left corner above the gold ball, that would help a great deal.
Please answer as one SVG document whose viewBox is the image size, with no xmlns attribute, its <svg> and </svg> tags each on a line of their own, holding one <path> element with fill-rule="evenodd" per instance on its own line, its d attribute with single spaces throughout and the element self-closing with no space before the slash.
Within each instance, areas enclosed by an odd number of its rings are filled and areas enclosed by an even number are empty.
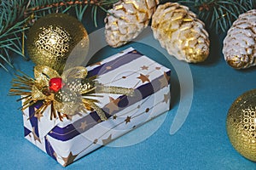
<svg viewBox="0 0 256 170">
<path fill-rule="evenodd" d="M 118 0 L 5 0 L 0 1 L 0 68 L 8 71 L 13 66 L 12 54 L 24 55 L 25 31 L 35 20 L 51 13 L 67 13 L 74 9 L 79 20 L 87 8 L 92 8 L 96 26 L 97 9 L 107 8 Z"/>
</svg>

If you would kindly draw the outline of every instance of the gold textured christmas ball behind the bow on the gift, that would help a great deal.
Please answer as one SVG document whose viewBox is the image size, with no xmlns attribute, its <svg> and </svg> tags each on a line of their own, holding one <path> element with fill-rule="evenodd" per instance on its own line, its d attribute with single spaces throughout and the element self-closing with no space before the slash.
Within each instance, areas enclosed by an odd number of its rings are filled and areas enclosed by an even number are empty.
<svg viewBox="0 0 256 170">
<path fill-rule="evenodd" d="M 81 65 L 89 50 L 87 31 L 68 14 L 48 14 L 37 20 L 27 35 L 27 52 L 36 65 L 58 72 Z"/>
</svg>

